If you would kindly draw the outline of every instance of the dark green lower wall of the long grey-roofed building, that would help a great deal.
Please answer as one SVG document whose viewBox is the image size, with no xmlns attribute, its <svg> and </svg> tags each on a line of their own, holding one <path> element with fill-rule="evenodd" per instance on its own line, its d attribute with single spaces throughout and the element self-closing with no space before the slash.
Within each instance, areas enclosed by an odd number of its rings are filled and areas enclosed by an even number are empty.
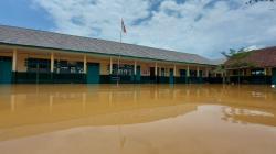
<svg viewBox="0 0 276 154">
<path fill-rule="evenodd" d="M 170 77 L 118 76 L 120 84 L 170 84 Z M 220 84 L 222 78 L 173 77 L 174 84 Z M 17 84 L 87 84 L 86 74 L 51 74 L 51 73 L 13 73 L 13 82 Z M 100 75 L 99 84 L 116 84 L 117 76 Z"/>
</svg>

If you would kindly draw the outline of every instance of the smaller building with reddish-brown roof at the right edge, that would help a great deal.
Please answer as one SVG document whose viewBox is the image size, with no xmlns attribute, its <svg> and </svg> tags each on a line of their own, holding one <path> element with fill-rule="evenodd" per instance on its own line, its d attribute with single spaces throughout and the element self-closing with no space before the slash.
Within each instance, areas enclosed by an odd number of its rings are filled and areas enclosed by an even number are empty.
<svg viewBox="0 0 276 154">
<path fill-rule="evenodd" d="M 224 65 L 229 82 L 276 84 L 276 47 L 238 53 Z"/>
</svg>

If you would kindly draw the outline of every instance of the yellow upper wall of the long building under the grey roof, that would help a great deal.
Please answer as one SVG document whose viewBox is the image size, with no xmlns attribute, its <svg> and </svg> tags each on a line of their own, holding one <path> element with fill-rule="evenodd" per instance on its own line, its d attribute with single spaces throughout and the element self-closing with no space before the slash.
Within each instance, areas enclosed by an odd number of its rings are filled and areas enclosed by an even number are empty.
<svg viewBox="0 0 276 154">
<path fill-rule="evenodd" d="M 51 52 L 53 51 L 20 51 L 18 50 L 18 59 L 17 59 L 17 70 L 18 72 L 26 72 L 25 66 L 25 59 L 28 57 L 32 58 L 43 58 L 43 59 L 50 59 L 51 58 Z M 0 56 L 12 56 L 12 51 L 9 52 L 1 52 Z M 68 61 L 68 62 L 83 62 L 84 61 L 84 54 L 75 54 L 75 53 L 63 53 L 63 52 L 56 52 L 54 51 L 54 59 L 57 61 Z M 109 57 L 103 57 L 103 56 L 91 56 L 87 55 L 87 63 L 99 63 L 100 65 L 100 75 L 109 75 Z M 113 58 L 113 64 L 117 64 L 117 58 Z M 135 65 L 135 59 L 120 59 L 120 64 L 128 64 L 128 65 Z M 141 76 L 150 76 L 150 67 L 155 67 L 156 63 L 150 61 L 137 61 L 137 66 L 140 66 Z M 159 76 L 161 76 L 161 68 L 164 68 L 164 76 L 170 76 L 170 69 L 174 70 L 174 64 L 170 63 L 162 63 L 158 62 L 157 67 L 159 68 Z M 190 70 L 197 70 L 197 65 L 189 65 Z M 180 69 L 187 70 L 185 64 L 177 64 L 176 65 L 176 77 L 180 76 Z M 203 76 L 205 76 L 206 68 L 209 72 L 211 72 L 210 66 L 201 66 L 200 70 L 203 72 Z"/>
</svg>

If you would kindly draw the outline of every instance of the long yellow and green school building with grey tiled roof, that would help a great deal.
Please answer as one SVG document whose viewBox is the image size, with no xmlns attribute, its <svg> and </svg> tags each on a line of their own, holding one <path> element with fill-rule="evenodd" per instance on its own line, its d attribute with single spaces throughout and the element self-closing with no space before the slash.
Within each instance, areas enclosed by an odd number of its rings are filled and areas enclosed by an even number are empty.
<svg viewBox="0 0 276 154">
<path fill-rule="evenodd" d="M 221 82 L 200 55 L 0 25 L 1 84 Z"/>
</svg>

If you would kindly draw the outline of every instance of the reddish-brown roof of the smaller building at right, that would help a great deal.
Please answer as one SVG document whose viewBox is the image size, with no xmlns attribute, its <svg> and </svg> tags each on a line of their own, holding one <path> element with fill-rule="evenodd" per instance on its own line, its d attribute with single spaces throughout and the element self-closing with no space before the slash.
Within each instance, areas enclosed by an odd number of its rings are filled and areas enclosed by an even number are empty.
<svg viewBox="0 0 276 154">
<path fill-rule="evenodd" d="M 236 63 L 254 67 L 276 67 L 276 46 L 245 52 L 242 57 L 227 59 L 225 65 L 231 67 Z"/>
</svg>

